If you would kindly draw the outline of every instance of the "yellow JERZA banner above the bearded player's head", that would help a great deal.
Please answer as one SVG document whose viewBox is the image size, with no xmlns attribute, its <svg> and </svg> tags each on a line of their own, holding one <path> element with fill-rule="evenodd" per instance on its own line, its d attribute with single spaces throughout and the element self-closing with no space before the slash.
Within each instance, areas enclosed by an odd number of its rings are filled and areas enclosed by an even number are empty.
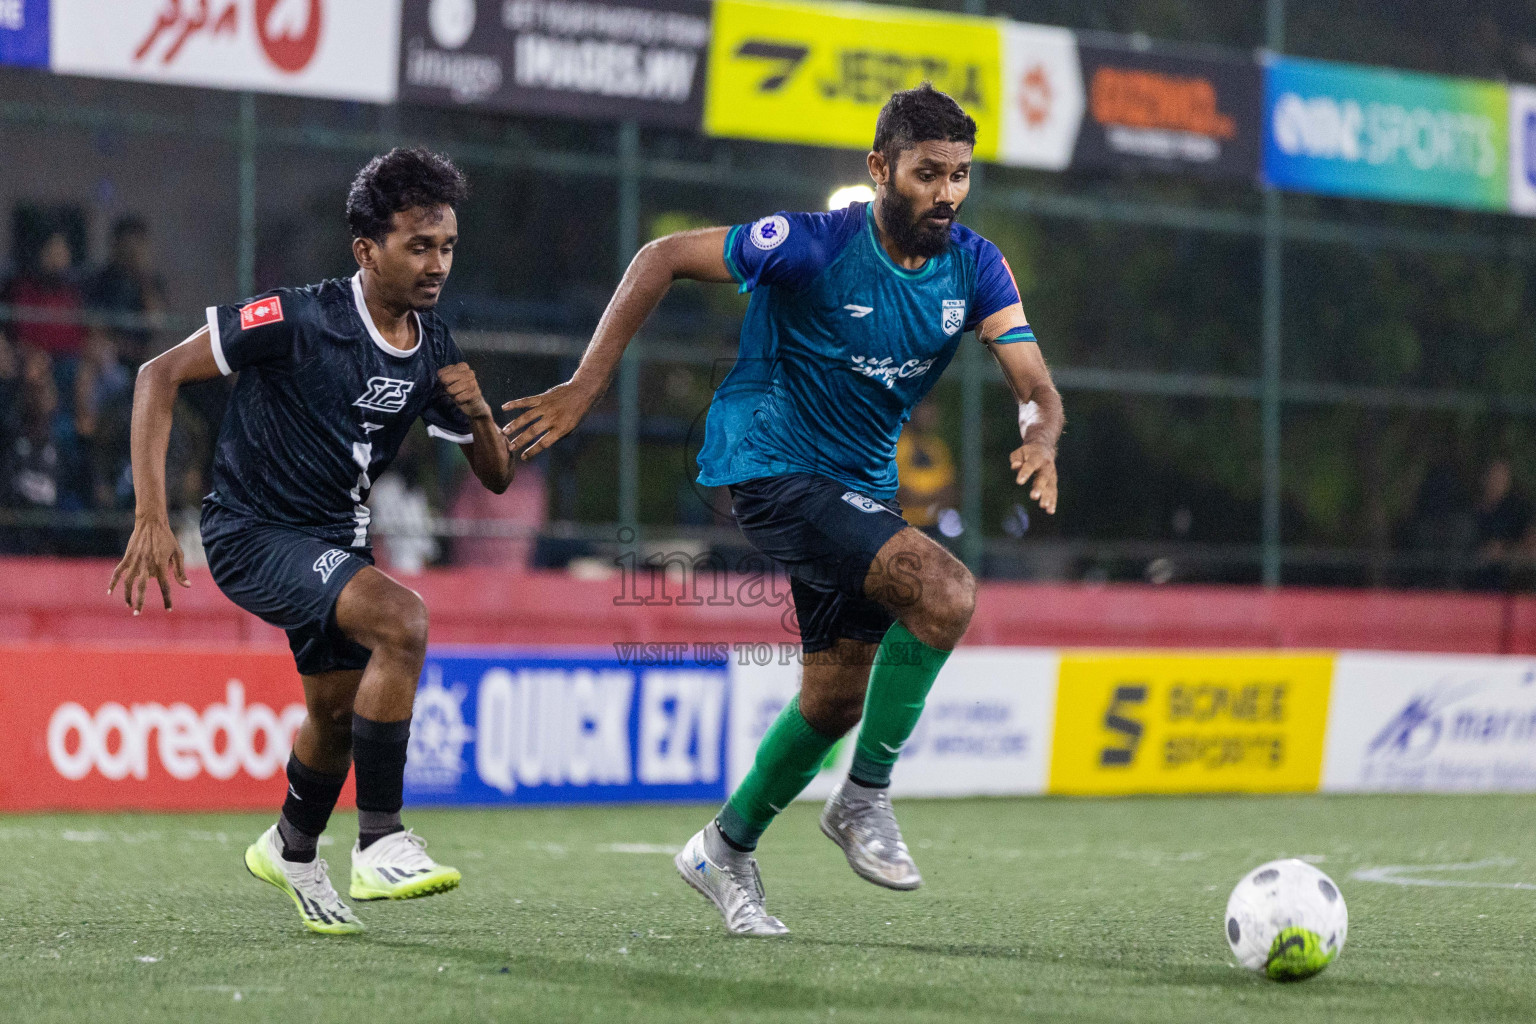
<svg viewBox="0 0 1536 1024">
<path fill-rule="evenodd" d="M 998 146 L 1000 21 L 862 3 L 717 0 L 703 127 L 711 135 L 869 149 L 892 92 L 932 81 Z"/>
</svg>

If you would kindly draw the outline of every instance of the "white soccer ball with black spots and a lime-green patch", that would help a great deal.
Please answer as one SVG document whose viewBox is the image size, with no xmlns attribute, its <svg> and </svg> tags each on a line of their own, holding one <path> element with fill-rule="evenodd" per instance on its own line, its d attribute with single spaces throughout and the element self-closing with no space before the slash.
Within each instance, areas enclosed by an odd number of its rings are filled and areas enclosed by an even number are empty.
<svg viewBox="0 0 1536 1024">
<path fill-rule="evenodd" d="M 1299 860 L 1260 864 L 1227 900 L 1227 944 L 1238 963 L 1275 981 L 1301 981 L 1344 949 L 1349 910 L 1333 880 Z"/>
</svg>

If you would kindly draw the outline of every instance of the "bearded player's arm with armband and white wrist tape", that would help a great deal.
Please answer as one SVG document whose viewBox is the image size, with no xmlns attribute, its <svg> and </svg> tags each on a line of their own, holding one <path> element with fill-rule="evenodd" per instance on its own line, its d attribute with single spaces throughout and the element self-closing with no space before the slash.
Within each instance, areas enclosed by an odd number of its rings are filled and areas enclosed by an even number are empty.
<svg viewBox="0 0 1536 1024">
<path fill-rule="evenodd" d="M 1014 481 L 1023 487 L 1032 477 L 1029 497 L 1040 502 L 1048 514 L 1055 514 L 1055 447 L 1066 427 L 1066 410 L 1038 342 L 1014 341 L 1032 333 L 1025 309 L 1017 302 L 988 316 L 977 330 L 1018 399 L 1018 434 L 1023 444 L 1008 456 Z"/>
</svg>

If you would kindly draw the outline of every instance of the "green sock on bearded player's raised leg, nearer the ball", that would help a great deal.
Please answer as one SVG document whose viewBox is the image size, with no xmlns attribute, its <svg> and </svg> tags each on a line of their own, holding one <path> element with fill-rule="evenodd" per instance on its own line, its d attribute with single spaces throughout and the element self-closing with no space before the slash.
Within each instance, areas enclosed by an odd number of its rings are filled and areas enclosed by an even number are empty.
<svg viewBox="0 0 1536 1024">
<path fill-rule="evenodd" d="M 902 745 L 917 728 L 928 691 L 938 679 L 938 669 L 949 660 L 949 651 L 931 648 L 900 622 L 886 629 L 869 669 L 869 691 L 865 694 L 863 726 L 854 765 L 848 775 L 868 786 L 889 786 L 891 768 Z"/>
</svg>

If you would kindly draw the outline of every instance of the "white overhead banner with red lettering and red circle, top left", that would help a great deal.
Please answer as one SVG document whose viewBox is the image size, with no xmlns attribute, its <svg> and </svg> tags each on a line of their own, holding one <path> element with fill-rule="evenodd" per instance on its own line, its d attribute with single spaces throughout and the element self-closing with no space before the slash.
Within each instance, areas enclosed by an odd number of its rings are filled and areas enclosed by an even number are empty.
<svg viewBox="0 0 1536 1024">
<path fill-rule="evenodd" d="M 399 0 L 52 0 L 66 75 L 390 103 L 398 54 Z"/>
</svg>

